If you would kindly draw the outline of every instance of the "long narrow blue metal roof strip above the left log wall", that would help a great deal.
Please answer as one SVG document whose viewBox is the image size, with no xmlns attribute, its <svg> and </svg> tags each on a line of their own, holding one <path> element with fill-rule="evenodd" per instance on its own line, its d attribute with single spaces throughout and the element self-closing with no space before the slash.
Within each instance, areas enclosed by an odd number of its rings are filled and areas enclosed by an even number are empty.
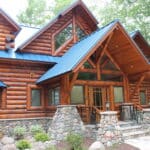
<svg viewBox="0 0 150 150">
<path fill-rule="evenodd" d="M 14 59 L 14 60 L 25 60 L 35 62 L 46 62 L 46 63 L 58 63 L 60 57 L 53 57 L 49 55 L 33 54 L 33 53 L 20 53 L 15 52 L 13 49 L 8 51 L 0 50 L 0 58 Z"/>
</svg>

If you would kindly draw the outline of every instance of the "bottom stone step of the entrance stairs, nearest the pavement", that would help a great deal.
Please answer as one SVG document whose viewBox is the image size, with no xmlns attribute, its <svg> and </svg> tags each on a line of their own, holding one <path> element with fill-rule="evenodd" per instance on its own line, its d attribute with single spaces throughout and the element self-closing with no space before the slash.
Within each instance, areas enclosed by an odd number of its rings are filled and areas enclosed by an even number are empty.
<svg viewBox="0 0 150 150">
<path fill-rule="evenodd" d="M 127 140 L 127 139 L 142 137 L 142 136 L 145 136 L 147 134 L 148 134 L 148 131 L 140 130 L 140 131 L 135 131 L 135 132 L 123 133 L 123 138 L 124 138 L 124 140 Z"/>
</svg>

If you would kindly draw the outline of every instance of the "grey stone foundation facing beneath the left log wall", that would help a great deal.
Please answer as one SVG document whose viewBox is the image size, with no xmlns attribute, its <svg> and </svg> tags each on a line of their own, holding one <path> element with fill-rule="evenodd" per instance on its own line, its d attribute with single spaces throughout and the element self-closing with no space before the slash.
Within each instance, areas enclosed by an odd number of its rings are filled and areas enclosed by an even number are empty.
<svg viewBox="0 0 150 150">
<path fill-rule="evenodd" d="M 5 135 L 12 135 L 13 129 L 16 126 L 26 127 L 27 130 L 32 125 L 41 125 L 45 131 L 48 130 L 51 124 L 52 118 L 42 117 L 42 118 L 21 118 L 21 119 L 0 119 L 0 133 Z"/>
</svg>

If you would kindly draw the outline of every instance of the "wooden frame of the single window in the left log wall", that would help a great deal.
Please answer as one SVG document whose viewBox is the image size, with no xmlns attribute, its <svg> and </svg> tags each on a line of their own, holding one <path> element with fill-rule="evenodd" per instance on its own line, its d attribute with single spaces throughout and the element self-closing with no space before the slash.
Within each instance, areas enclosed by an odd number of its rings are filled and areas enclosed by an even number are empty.
<svg viewBox="0 0 150 150">
<path fill-rule="evenodd" d="M 44 109 L 44 89 L 42 87 L 36 86 L 36 85 L 28 85 L 27 90 L 27 110 L 41 110 Z M 41 106 L 32 106 L 31 100 L 32 100 L 32 90 L 40 90 L 40 101 Z"/>
</svg>

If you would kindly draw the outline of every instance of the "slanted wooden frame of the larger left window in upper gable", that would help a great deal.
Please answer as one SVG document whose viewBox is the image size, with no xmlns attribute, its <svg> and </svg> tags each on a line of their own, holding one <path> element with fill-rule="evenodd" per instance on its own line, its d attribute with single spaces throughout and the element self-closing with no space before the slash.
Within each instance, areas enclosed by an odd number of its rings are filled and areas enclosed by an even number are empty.
<svg viewBox="0 0 150 150">
<path fill-rule="evenodd" d="M 59 48 L 55 48 L 55 37 L 63 31 L 68 25 L 72 24 L 72 36 L 70 39 L 68 39 L 66 42 L 64 42 Z M 56 55 L 59 53 L 63 47 L 68 45 L 71 41 L 73 40 L 73 20 L 70 20 L 69 22 L 65 23 L 59 30 L 57 30 L 53 35 L 52 35 L 52 53 L 53 55 Z"/>
</svg>

